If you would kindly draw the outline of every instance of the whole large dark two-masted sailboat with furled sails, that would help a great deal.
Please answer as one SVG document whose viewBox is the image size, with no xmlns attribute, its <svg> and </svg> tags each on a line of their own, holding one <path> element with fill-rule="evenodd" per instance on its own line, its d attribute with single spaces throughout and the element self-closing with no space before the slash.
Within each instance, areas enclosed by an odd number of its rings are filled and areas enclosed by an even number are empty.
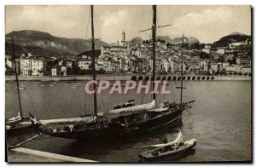
<svg viewBox="0 0 256 167">
<path fill-rule="evenodd" d="M 93 6 L 91 11 L 91 49 L 92 49 L 92 78 L 96 80 L 95 61 L 95 37 L 93 24 Z M 156 36 L 156 6 L 153 6 L 154 19 L 152 26 L 153 38 L 153 78 L 155 77 L 155 36 Z M 183 60 L 183 59 L 182 59 Z M 182 72 L 183 75 L 183 72 Z M 153 84 L 154 88 L 154 84 Z M 183 88 L 183 82 L 181 87 Z M 96 90 L 96 83 L 93 83 Z M 81 141 L 106 141 L 116 140 L 124 136 L 131 137 L 133 134 L 144 134 L 149 130 L 158 129 L 168 124 L 180 121 L 183 111 L 194 101 L 183 102 L 181 93 L 181 103 L 165 103 L 163 107 L 156 107 L 156 95 L 153 100 L 142 105 L 125 105 L 125 107 L 115 107 L 107 112 L 97 111 L 96 91 L 94 93 L 94 114 L 83 116 L 82 118 L 60 118 L 48 120 L 49 124 L 61 124 L 63 128 L 51 129 L 45 126 L 45 121 L 38 121 L 31 114 L 32 124 L 46 135 L 55 137 L 76 139 Z M 63 125 L 64 124 L 64 125 Z"/>
</svg>

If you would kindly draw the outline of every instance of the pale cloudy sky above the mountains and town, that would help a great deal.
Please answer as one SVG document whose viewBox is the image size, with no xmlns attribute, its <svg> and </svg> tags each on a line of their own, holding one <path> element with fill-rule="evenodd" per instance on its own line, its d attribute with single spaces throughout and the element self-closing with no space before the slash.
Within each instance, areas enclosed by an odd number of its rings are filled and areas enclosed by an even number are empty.
<svg viewBox="0 0 256 167">
<path fill-rule="evenodd" d="M 94 6 L 95 37 L 117 43 L 125 30 L 126 40 L 148 39 L 152 26 L 151 6 Z M 157 6 L 157 35 L 196 37 L 213 43 L 232 32 L 251 35 L 250 6 Z M 49 5 L 5 7 L 5 33 L 20 30 L 49 32 L 56 37 L 90 38 L 90 6 Z"/>
</svg>

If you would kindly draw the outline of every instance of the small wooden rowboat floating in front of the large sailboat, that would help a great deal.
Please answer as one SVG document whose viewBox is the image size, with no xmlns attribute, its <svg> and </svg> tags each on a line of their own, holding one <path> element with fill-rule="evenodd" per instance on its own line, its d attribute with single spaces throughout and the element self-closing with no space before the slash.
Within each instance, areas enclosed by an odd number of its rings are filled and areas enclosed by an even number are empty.
<svg viewBox="0 0 256 167">
<path fill-rule="evenodd" d="M 158 147 L 147 152 L 140 153 L 139 157 L 143 161 L 154 161 L 165 158 L 174 158 L 183 153 L 188 152 L 196 145 L 196 139 L 193 138 L 189 141 L 181 142 L 178 147 Z"/>
</svg>

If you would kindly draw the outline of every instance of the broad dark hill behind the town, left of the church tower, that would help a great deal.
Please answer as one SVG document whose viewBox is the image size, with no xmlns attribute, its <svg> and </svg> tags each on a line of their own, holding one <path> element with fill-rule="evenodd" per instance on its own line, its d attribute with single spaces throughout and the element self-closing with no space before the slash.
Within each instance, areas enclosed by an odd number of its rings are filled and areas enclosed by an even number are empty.
<svg viewBox="0 0 256 167">
<path fill-rule="evenodd" d="M 83 51 L 90 50 L 90 39 L 55 37 L 47 32 L 23 30 L 11 32 L 5 35 L 6 54 L 11 54 L 11 35 L 15 41 L 16 54 L 33 52 L 35 55 L 79 55 Z M 102 45 L 108 45 L 102 41 L 96 41 L 96 49 Z"/>
</svg>

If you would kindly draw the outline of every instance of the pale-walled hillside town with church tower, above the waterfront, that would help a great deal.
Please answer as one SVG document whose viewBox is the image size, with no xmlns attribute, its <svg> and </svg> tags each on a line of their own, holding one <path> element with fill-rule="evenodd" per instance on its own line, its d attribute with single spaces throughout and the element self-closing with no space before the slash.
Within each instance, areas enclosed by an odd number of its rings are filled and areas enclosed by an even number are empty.
<svg viewBox="0 0 256 167">
<path fill-rule="evenodd" d="M 196 47 L 199 43 L 172 44 L 158 39 L 156 48 L 156 72 L 175 74 L 181 72 L 183 54 L 183 72 L 186 74 L 251 76 L 251 40 L 229 43 L 227 47 L 212 48 L 210 44 Z M 192 46 L 193 45 L 193 46 Z M 68 76 L 91 74 L 91 52 L 73 56 L 5 55 L 6 75 L 21 76 Z M 102 46 L 96 51 L 96 72 L 98 74 L 150 73 L 152 71 L 152 43 L 126 41 L 125 31 L 121 41 Z"/>
</svg>

